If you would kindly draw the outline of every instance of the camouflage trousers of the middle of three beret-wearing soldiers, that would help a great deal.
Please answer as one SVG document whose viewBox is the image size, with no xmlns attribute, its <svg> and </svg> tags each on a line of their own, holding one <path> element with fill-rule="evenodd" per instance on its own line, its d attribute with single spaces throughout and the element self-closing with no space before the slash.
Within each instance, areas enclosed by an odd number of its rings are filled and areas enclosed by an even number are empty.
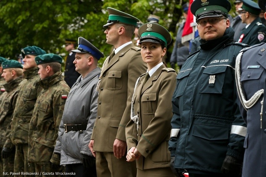
<svg viewBox="0 0 266 177">
<path fill-rule="evenodd" d="M 16 153 L 14 160 L 14 172 L 19 174 L 19 172 L 25 172 L 26 174 L 14 175 L 15 177 L 34 177 L 32 175 L 35 172 L 34 163 L 28 163 L 28 144 L 18 144 L 16 145 Z"/>
</svg>

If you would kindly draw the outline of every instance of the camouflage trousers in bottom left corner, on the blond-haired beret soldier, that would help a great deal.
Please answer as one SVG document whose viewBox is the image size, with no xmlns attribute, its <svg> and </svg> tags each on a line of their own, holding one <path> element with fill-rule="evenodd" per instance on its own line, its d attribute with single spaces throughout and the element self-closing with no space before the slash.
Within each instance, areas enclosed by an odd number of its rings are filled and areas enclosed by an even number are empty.
<svg viewBox="0 0 266 177">
<path fill-rule="evenodd" d="M 0 148 L 0 152 L 2 148 Z M 11 155 L 7 159 L 0 158 L 0 177 L 12 177 L 14 176 L 14 152 L 11 152 Z"/>
</svg>

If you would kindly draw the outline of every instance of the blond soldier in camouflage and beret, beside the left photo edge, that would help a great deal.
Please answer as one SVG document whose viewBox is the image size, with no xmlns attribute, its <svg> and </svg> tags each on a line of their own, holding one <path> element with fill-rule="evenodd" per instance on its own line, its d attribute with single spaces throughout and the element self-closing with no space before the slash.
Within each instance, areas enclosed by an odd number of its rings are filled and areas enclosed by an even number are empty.
<svg viewBox="0 0 266 177">
<path fill-rule="evenodd" d="M 2 99 L 0 100 L 0 148 L 2 149 L 0 173 L 2 175 L 3 172 L 8 172 L 9 175 L 14 171 L 15 146 L 5 145 L 5 142 L 6 137 L 10 134 L 10 122 L 17 101 L 18 84 L 23 80 L 23 69 L 16 60 L 4 61 L 2 68 L 1 76 L 7 84 L 4 84 L 6 91 L 1 95 Z"/>
</svg>

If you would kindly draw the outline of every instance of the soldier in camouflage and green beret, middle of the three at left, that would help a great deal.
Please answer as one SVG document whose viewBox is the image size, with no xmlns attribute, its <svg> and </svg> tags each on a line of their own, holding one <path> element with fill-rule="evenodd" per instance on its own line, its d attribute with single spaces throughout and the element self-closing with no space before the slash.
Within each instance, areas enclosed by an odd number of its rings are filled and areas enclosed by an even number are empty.
<svg viewBox="0 0 266 177">
<path fill-rule="evenodd" d="M 34 104 L 41 89 L 36 85 L 40 76 L 35 57 L 42 54 L 46 54 L 46 52 L 37 46 L 27 46 L 21 50 L 25 80 L 18 86 L 19 92 L 12 117 L 11 135 L 6 142 L 10 143 L 11 141 L 16 146 L 14 172 L 18 175 L 15 176 L 23 176 L 19 172 L 35 172 L 34 164 L 28 164 L 27 161 L 28 132 Z"/>
</svg>

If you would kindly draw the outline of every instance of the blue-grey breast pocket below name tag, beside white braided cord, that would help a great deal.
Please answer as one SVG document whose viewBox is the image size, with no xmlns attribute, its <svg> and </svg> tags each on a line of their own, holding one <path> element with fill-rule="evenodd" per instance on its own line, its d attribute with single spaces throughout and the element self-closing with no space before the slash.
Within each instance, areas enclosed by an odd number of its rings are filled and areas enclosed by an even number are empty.
<svg viewBox="0 0 266 177">
<path fill-rule="evenodd" d="M 265 78 L 261 78 L 264 69 L 246 69 L 241 74 L 240 81 L 244 83 L 245 90 L 254 90 L 264 88 Z M 264 76 L 265 77 L 265 76 Z M 259 82 L 258 82 L 259 79 Z"/>
</svg>

